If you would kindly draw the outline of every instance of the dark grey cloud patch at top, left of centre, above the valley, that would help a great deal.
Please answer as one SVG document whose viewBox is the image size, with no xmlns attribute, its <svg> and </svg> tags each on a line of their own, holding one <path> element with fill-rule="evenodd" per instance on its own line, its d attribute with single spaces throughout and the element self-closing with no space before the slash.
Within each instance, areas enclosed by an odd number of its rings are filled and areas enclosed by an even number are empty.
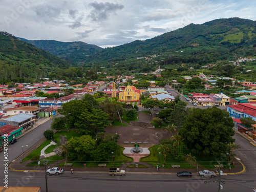
<svg viewBox="0 0 256 192">
<path fill-rule="evenodd" d="M 90 3 L 90 6 L 93 7 L 93 10 L 89 14 L 89 17 L 92 18 L 95 22 L 102 22 L 103 20 L 108 20 L 111 13 L 115 14 L 117 10 L 124 8 L 123 5 L 113 4 L 113 3 Z"/>
</svg>

